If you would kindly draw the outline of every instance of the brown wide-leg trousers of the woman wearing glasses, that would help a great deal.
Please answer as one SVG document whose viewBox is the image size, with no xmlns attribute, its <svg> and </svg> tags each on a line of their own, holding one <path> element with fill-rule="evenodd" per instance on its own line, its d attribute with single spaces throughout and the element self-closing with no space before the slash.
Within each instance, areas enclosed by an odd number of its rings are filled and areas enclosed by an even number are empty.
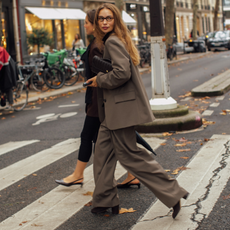
<svg viewBox="0 0 230 230">
<path fill-rule="evenodd" d="M 145 149 L 137 146 L 134 127 L 109 130 L 103 122 L 94 155 L 94 207 L 114 207 L 119 204 L 114 178 L 117 160 L 169 208 L 187 194 Z"/>
</svg>

